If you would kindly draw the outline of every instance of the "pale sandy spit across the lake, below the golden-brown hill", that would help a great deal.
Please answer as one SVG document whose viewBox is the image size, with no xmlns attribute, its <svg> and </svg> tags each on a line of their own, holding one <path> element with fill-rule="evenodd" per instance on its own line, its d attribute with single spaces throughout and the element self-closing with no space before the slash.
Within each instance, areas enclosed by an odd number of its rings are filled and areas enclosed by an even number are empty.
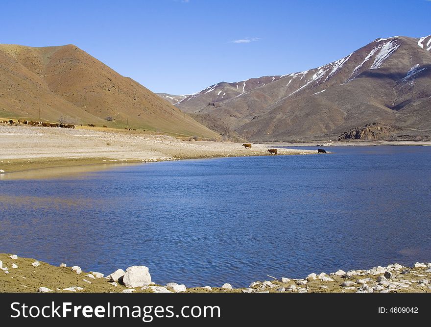
<svg viewBox="0 0 431 327">
<path fill-rule="evenodd" d="M 119 163 L 269 155 L 267 148 L 253 144 L 251 149 L 245 149 L 241 143 L 183 141 L 115 129 L 0 126 L 0 170 L 4 171 L 0 178 L 61 176 L 109 169 Z M 278 152 L 281 155 L 316 153 L 290 149 Z"/>
</svg>

